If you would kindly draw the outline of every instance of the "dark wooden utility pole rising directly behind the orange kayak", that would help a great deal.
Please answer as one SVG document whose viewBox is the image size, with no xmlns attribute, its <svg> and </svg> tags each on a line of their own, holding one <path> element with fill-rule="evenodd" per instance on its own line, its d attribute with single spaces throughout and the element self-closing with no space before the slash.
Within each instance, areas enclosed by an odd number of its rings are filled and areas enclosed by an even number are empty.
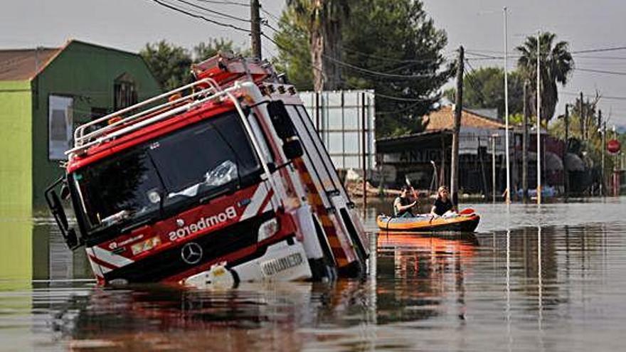
<svg viewBox="0 0 626 352">
<path fill-rule="evenodd" d="M 450 196 L 452 204 L 459 205 L 459 132 L 461 129 L 461 113 L 463 111 L 463 70 L 465 53 L 463 46 L 459 47 L 459 63 L 457 67 L 457 96 L 455 102 L 455 127 L 452 130 L 452 159 L 450 159 Z"/>
</svg>

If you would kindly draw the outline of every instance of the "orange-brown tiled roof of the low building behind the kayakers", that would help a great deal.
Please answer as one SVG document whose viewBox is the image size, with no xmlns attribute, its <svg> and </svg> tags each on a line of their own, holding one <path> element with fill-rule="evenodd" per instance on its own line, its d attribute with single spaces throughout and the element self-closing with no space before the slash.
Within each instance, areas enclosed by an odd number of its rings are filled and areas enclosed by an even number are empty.
<svg viewBox="0 0 626 352">
<path fill-rule="evenodd" d="M 440 110 L 431 112 L 425 116 L 424 123 L 426 130 L 434 129 L 452 129 L 455 124 L 455 112 L 452 106 L 441 107 Z M 461 126 L 477 127 L 485 129 L 501 129 L 504 128 L 504 122 L 499 119 L 485 117 L 475 112 L 462 110 Z"/>
</svg>

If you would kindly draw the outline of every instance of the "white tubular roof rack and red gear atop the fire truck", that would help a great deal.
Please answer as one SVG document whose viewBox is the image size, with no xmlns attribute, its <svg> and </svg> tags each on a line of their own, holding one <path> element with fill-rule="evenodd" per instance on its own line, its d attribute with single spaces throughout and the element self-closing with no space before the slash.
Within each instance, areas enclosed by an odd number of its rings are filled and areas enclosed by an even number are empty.
<svg viewBox="0 0 626 352">
<path fill-rule="evenodd" d="M 229 53 L 218 53 L 213 58 L 193 64 L 191 71 L 196 82 L 80 125 L 74 131 L 74 147 L 65 151 L 65 154 L 72 159 L 92 146 L 173 117 L 204 102 L 224 97 L 227 90 L 233 89 L 230 87 L 224 90 L 223 87 L 231 86 L 237 80 L 260 82 L 277 78 L 269 63 Z M 162 100 L 166 102 L 159 104 Z"/>
</svg>

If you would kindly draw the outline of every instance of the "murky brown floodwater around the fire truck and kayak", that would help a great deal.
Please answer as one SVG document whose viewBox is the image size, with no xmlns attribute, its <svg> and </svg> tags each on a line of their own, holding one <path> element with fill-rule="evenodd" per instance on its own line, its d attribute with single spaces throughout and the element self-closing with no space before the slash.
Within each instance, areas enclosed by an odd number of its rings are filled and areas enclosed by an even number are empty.
<svg viewBox="0 0 626 352">
<path fill-rule="evenodd" d="M 3 218 L 0 350 L 623 351 L 626 198 L 471 206 L 462 236 L 378 233 L 368 208 L 362 279 L 221 291 L 95 287 L 50 219 Z"/>
</svg>

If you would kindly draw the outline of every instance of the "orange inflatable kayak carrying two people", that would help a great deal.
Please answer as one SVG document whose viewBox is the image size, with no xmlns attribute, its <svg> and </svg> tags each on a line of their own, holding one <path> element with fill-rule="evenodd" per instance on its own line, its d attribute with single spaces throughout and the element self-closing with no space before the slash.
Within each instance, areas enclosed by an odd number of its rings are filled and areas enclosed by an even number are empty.
<svg viewBox="0 0 626 352">
<path fill-rule="evenodd" d="M 378 215 L 376 224 L 381 230 L 392 231 L 467 231 L 476 230 L 480 216 L 462 214 L 447 218 L 432 219 L 430 216 L 416 216 L 415 218 L 392 218 L 387 215 Z"/>
</svg>

